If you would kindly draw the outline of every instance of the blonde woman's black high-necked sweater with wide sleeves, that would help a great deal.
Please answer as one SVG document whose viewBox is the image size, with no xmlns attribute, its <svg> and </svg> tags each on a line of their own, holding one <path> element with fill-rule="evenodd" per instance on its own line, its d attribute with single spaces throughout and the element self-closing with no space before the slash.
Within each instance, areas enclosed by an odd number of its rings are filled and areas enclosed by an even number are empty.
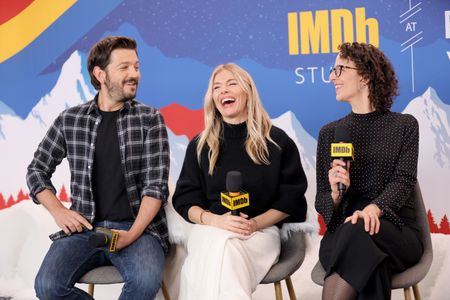
<svg viewBox="0 0 450 300">
<path fill-rule="evenodd" d="M 200 206 L 216 214 L 229 210 L 221 205 L 220 193 L 226 191 L 228 171 L 242 173 L 242 189 L 250 195 L 250 205 L 241 212 L 250 218 L 270 208 L 290 215 L 284 222 L 302 222 L 306 218 L 305 191 L 307 181 L 295 143 L 275 126 L 268 142 L 270 164 L 255 164 L 245 151 L 246 123 L 223 124 L 219 159 L 212 176 L 208 175 L 208 147 L 201 162 L 197 159 L 197 137 L 188 145 L 183 167 L 173 195 L 176 211 L 189 221 L 188 210 Z"/>
</svg>

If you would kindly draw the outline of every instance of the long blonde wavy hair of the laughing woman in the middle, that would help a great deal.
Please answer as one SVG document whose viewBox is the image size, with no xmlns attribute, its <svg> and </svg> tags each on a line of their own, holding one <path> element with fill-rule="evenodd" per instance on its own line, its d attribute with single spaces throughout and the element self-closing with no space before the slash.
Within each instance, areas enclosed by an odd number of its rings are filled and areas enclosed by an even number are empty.
<svg viewBox="0 0 450 300">
<path fill-rule="evenodd" d="M 213 100 L 213 84 L 216 75 L 223 70 L 227 70 L 233 74 L 238 85 L 247 95 L 247 138 L 245 141 L 245 150 L 248 156 L 250 156 L 255 164 L 268 165 L 270 161 L 267 141 L 278 146 L 270 137 L 272 122 L 261 103 L 255 82 L 250 74 L 233 63 L 218 65 L 209 79 L 208 90 L 206 91 L 204 100 L 205 129 L 199 135 L 197 144 L 197 158 L 199 162 L 203 147 L 205 145 L 209 146 L 209 175 L 213 174 L 219 157 L 220 135 L 223 126 L 222 116 Z"/>
</svg>

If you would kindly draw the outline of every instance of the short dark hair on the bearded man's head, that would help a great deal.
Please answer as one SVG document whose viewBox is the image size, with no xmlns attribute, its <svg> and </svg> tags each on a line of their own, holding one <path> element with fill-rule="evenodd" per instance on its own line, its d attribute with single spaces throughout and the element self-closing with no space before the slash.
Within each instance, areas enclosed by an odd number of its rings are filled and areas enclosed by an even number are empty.
<svg viewBox="0 0 450 300">
<path fill-rule="evenodd" d="M 131 49 L 135 50 L 137 54 L 136 41 L 126 36 L 108 36 L 95 44 L 89 51 L 87 59 L 88 71 L 91 83 L 97 91 L 100 90 L 100 82 L 94 76 L 94 67 L 98 66 L 100 69 L 105 70 L 109 65 L 111 52 L 115 49 Z"/>
</svg>

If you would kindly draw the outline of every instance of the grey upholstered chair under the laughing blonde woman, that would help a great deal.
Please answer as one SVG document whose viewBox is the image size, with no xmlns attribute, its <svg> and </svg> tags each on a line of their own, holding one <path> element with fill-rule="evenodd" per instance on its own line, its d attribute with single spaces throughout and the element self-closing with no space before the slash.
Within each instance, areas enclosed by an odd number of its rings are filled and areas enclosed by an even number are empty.
<svg viewBox="0 0 450 300">
<path fill-rule="evenodd" d="M 281 281 L 286 281 L 286 286 L 291 300 L 297 299 L 292 286 L 291 275 L 301 266 L 305 259 L 305 233 L 291 232 L 289 238 L 281 243 L 281 252 L 278 262 L 272 266 L 261 283 L 273 283 L 275 285 L 275 298 L 282 300 Z"/>
</svg>

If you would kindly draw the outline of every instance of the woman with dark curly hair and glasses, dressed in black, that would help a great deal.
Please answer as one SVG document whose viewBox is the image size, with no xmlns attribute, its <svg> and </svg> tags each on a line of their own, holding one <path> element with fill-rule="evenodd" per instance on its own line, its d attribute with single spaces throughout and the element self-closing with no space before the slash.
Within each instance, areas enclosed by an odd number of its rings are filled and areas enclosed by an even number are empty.
<svg viewBox="0 0 450 300">
<path fill-rule="evenodd" d="M 330 80 L 336 99 L 352 111 L 325 125 L 317 145 L 315 206 L 327 226 L 319 251 L 322 299 L 390 299 L 392 274 L 423 252 L 410 198 L 418 123 L 389 110 L 398 81 L 383 52 L 363 43 L 344 43 L 339 51 Z M 351 162 L 330 157 L 341 132 L 354 146 Z M 346 187 L 341 193 L 339 184 Z"/>
</svg>

